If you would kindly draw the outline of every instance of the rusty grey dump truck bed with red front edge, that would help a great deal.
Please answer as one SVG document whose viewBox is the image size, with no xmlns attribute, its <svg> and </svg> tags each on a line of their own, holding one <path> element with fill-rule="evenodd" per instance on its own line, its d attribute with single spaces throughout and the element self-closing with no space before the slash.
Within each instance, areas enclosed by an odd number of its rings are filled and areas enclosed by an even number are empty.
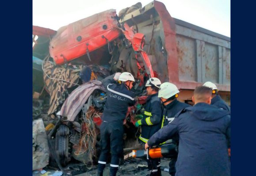
<svg viewBox="0 0 256 176">
<path fill-rule="evenodd" d="M 148 55 L 153 55 L 153 70 L 161 81 L 170 81 L 180 89 L 194 89 L 211 81 L 220 91 L 230 92 L 230 38 L 172 18 L 169 13 L 164 4 L 153 1 L 124 15 L 120 22 L 134 28 L 137 25 L 139 33 L 146 35 L 143 49 L 148 51 L 151 45 Z"/>
</svg>

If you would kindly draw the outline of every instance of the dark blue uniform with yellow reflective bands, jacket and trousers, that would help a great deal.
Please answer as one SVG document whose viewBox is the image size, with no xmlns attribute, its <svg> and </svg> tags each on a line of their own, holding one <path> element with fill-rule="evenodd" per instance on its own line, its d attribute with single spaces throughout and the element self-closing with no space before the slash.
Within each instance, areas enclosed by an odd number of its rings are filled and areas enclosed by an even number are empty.
<svg viewBox="0 0 256 176">
<path fill-rule="evenodd" d="M 147 143 L 148 139 L 157 132 L 162 125 L 162 108 L 161 100 L 158 98 L 158 94 L 148 95 L 146 99 L 146 105 L 144 106 L 144 114 L 141 119 L 141 135 L 139 136 L 140 143 Z M 147 160 L 148 169 L 150 169 L 151 176 L 160 176 L 160 158 L 154 158 Z"/>
</svg>

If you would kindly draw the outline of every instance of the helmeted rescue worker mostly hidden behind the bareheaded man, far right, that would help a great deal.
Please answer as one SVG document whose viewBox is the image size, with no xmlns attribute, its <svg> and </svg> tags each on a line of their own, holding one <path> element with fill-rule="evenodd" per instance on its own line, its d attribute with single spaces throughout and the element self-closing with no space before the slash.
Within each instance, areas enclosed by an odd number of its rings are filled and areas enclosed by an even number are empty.
<svg viewBox="0 0 256 176">
<path fill-rule="evenodd" d="M 212 95 L 211 95 L 211 105 L 215 105 L 219 108 L 222 108 L 224 110 L 227 110 L 230 114 L 230 106 L 218 95 L 218 88 L 215 84 L 213 84 L 210 81 L 207 81 L 203 84 L 203 86 L 206 86 L 208 88 L 212 89 Z"/>
</svg>

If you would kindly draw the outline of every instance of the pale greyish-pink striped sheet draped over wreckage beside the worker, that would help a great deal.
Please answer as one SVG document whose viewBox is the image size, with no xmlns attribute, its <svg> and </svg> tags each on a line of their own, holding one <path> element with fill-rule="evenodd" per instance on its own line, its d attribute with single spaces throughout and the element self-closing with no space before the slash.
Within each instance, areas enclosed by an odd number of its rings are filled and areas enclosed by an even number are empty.
<svg viewBox="0 0 256 176">
<path fill-rule="evenodd" d="M 67 117 L 68 121 L 74 121 L 77 114 L 82 110 L 83 105 L 90 97 L 95 89 L 105 91 L 101 81 L 93 80 L 91 82 L 84 83 L 76 88 L 65 100 L 60 110 L 62 117 Z"/>
</svg>

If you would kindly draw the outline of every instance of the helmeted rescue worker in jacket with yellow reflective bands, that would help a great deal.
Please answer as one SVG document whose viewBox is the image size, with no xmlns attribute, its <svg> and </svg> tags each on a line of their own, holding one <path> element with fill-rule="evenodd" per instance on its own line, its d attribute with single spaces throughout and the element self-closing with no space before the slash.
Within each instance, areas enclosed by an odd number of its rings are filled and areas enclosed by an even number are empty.
<svg viewBox="0 0 256 176">
<path fill-rule="evenodd" d="M 139 143 L 147 143 L 147 140 L 157 132 L 162 125 L 162 108 L 161 102 L 158 98 L 158 89 L 161 81 L 152 77 L 146 82 L 147 99 L 144 106 L 143 118 L 135 123 L 136 127 L 141 126 L 141 135 L 139 136 Z M 161 176 L 160 158 L 147 160 L 148 169 L 151 170 L 150 176 Z"/>
</svg>

